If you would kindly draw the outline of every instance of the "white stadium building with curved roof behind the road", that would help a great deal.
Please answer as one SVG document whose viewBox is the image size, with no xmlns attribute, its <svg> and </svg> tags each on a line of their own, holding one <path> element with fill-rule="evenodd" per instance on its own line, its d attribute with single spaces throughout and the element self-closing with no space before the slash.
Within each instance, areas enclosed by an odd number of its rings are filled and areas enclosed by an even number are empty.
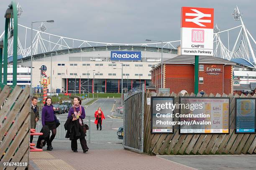
<svg viewBox="0 0 256 170">
<path fill-rule="evenodd" d="M 141 60 L 113 60 L 111 51 L 141 52 Z M 177 49 L 163 48 L 163 61 L 176 56 Z M 125 92 L 139 84 L 145 84 L 146 88 L 151 86 L 150 70 L 159 62 L 161 48 L 157 47 L 95 46 L 40 53 L 33 55 L 33 92 L 41 93 L 41 88 L 38 87 L 41 87 L 42 66 L 47 68 L 46 76 L 52 76 L 51 85 L 48 86 L 49 92 L 87 93 L 89 89 L 89 93 L 121 93 L 122 68 Z M 23 68 L 30 67 L 31 57 L 20 58 L 18 65 Z M 30 69 L 26 71 L 29 75 Z"/>
</svg>

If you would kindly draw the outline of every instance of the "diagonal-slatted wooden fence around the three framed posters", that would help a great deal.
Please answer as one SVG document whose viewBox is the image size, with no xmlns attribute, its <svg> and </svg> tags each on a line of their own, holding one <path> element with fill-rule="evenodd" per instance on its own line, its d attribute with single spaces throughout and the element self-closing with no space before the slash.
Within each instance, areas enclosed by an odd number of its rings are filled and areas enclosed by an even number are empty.
<svg viewBox="0 0 256 170">
<path fill-rule="evenodd" d="M 145 98 L 156 96 L 156 93 L 147 93 Z M 158 96 L 164 96 L 159 94 Z M 166 95 L 165 95 L 166 96 Z M 168 94 L 179 102 L 179 96 L 195 96 L 195 94 Z M 202 96 L 198 94 L 197 96 Z M 204 94 L 204 97 L 214 97 L 214 94 Z M 221 97 L 216 94 L 215 97 Z M 222 97 L 227 97 L 223 94 Z M 229 94 L 230 98 L 230 127 L 235 124 L 235 98 L 256 97 L 248 94 Z M 210 154 L 255 154 L 256 134 L 236 134 L 230 129 L 230 134 L 179 134 L 178 127 L 174 127 L 173 134 L 151 134 L 151 107 L 144 100 L 144 152 L 152 155 L 210 155 Z M 178 113 L 179 110 L 174 110 Z M 174 119 L 175 120 L 175 119 Z"/>
</svg>

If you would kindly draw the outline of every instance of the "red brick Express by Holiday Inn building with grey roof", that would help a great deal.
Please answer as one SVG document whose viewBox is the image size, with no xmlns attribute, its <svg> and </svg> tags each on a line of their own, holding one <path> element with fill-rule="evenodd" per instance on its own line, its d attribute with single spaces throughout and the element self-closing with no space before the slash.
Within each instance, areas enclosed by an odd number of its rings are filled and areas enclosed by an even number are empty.
<svg viewBox="0 0 256 170">
<path fill-rule="evenodd" d="M 212 56 L 199 56 L 198 91 L 207 94 L 232 94 L 233 66 L 236 63 Z M 152 67 L 151 82 L 156 91 L 161 88 L 161 63 Z M 170 92 L 194 92 L 195 56 L 177 56 L 163 62 L 163 88 Z"/>
</svg>

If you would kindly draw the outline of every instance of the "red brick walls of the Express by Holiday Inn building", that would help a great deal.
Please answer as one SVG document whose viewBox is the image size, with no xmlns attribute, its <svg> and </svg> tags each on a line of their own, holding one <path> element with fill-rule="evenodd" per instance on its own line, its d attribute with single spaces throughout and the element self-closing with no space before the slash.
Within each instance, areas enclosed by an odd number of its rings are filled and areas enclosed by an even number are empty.
<svg viewBox="0 0 256 170">
<path fill-rule="evenodd" d="M 207 67 L 213 64 L 204 64 L 204 71 L 199 71 L 199 77 L 204 78 L 204 83 L 199 84 L 199 92 L 205 91 L 207 94 L 223 94 L 223 64 L 215 64 L 215 68 L 220 68 L 219 75 L 208 75 Z M 231 92 L 231 66 L 224 66 L 224 93 Z M 190 64 L 166 64 L 165 87 L 170 88 L 170 92 L 186 90 L 188 93 L 194 92 L 194 65 Z"/>
</svg>

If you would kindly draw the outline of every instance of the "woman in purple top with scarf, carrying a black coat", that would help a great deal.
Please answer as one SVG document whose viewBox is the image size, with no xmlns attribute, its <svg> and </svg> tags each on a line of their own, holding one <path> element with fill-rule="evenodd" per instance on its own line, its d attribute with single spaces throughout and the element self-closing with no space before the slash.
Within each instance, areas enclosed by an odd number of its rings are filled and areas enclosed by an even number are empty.
<svg viewBox="0 0 256 170">
<path fill-rule="evenodd" d="M 77 152 L 77 140 L 80 140 L 82 149 L 85 152 L 88 151 L 87 142 L 85 140 L 84 122 L 82 119 L 85 118 L 84 107 L 81 106 L 81 99 L 74 97 L 74 105 L 69 109 L 67 117 L 67 134 L 71 140 L 71 149 Z M 65 125 L 64 125 L 65 126 Z M 65 128 L 66 129 L 66 128 Z"/>
</svg>

